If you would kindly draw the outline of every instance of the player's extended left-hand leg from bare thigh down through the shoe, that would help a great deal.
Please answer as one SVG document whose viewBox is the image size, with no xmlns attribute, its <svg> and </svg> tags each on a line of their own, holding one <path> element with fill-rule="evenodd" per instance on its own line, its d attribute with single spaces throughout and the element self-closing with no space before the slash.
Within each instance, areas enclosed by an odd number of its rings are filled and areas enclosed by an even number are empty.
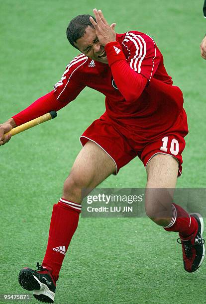
<svg viewBox="0 0 206 304">
<path fill-rule="evenodd" d="M 19 283 L 33 290 L 41 302 L 54 302 L 56 281 L 69 243 L 78 226 L 82 196 L 115 172 L 112 158 L 97 144 L 89 141 L 77 156 L 69 177 L 64 183 L 63 197 L 53 207 L 49 238 L 42 266 L 38 271 L 24 268 Z"/>
</svg>

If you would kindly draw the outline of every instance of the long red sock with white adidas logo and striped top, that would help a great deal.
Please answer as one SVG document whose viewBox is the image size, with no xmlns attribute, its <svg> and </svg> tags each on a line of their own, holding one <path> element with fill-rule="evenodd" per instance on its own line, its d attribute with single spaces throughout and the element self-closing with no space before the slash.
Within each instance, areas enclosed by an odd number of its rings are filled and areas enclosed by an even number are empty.
<svg viewBox="0 0 206 304">
<path fill-rule="evenodd" d="M 48 267 L 48 270 L 52 269 L 55 281 L 59 278 L 65 253 L 77 229 L 81 208 L 80 204 L 65 199 L 60 199 L 53 207 L 48 244 L 42 266 Z"/>
</svg>

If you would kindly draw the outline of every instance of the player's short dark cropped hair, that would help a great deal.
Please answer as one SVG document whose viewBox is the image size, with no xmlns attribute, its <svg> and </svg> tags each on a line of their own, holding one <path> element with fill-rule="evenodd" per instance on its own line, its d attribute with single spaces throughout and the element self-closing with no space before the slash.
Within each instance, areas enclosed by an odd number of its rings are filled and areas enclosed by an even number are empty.
<svg viewBox="0 0 206 304">
<path fill-rule="evenodd" d="M 83 37 L 86 34 L 86 28 L 88 26 L 91 26 L 94 28 L 92 22 L 90 21 L 90 17 L 93 17 L 91 15 L 78 15 L 74 19 L 72 19 L 67 27 L 67 39 L 71 43 L 73 47 L 77 49 L 77 47 L 74 45 L 74 42 L 77 41 L 77 39 Z M 96 22 L 95 17 L 93 19 Z"/>
</svg>

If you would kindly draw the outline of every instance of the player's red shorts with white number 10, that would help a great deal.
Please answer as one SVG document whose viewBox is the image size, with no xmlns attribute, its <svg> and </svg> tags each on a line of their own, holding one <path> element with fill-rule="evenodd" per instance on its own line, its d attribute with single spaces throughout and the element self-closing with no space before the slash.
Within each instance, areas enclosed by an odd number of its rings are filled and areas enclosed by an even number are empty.
<svg viewBox="0 0 206 304">
<path fill-rule="evenodd" d="M 142 129 L 143 131 L 143 129 Z M 144 129 L 145 131 L 145 129 Z M 182 174 L 182 152 L 185 148 L 184 137 L 188 134 L 187 116 L 183 110 L 172 127 L 156 134 L 148 130 L 149 137 L 139 136 L 141 130 L 128 128 L 122 123 L 111 120 L 107 115 L 95 120 L 80 137 L 82 146 L 89 140 L 100 146 L 115 162 L 116 172 L 134 157 L 138 156 L 146 167 L 157 153 L 175 157 L 179 163 L 178 176 Z"/>
</svg>

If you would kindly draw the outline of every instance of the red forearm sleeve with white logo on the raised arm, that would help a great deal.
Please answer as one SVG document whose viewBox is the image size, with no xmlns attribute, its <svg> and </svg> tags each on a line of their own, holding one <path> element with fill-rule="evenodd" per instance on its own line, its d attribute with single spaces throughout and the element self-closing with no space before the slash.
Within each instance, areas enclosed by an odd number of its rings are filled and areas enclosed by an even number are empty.
<svg viewBox="0 0 206 304">
<path fill-rule="evenodd" d="M 107 43 L 105 51 L 112 76 L 119 91 L 126 101 L 136 101 L 148 82 L 147 78 L 130 68 L 117 41 Z"/>
</svg>

